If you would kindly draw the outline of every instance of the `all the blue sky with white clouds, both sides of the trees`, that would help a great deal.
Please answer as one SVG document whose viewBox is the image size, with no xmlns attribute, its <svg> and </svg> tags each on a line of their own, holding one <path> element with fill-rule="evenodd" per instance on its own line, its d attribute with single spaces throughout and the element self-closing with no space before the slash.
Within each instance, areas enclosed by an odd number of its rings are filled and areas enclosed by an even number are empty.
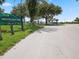
<svg viewBox="0 0 79 59">
<path fill-rule="evenodd" d="M 10 13 L 12 7 L 20 3 L 21 0 L 6 0 L 6 2 L 1 6 L 5 13 Z M 53 3 L 62 8 L 62 14 L 56 16 L 60 21 L 73 21 L 76 17 L 79 17 L 79 2 L 75 0 L 49 0 L 49 3 Z"/>
</svg>

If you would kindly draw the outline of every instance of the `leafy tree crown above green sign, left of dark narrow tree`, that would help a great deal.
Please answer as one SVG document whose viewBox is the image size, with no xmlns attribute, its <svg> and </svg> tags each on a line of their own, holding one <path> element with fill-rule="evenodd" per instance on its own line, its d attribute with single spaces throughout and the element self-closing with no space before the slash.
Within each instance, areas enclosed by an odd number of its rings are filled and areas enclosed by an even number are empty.
<svg viewBox="0 0 79 59">
<path fill-rule="evenodd" d="M 12 10 L 12 14 L 15 14 L 17 16 L 22 16 L 22 17 L 25 17 L 25 15 L 27 14 L 26 13 L 26 5 L 21 5 L 21 4 L 18 4 L 16 7 L 13 7 L 13 10 Z"/>
</svg>

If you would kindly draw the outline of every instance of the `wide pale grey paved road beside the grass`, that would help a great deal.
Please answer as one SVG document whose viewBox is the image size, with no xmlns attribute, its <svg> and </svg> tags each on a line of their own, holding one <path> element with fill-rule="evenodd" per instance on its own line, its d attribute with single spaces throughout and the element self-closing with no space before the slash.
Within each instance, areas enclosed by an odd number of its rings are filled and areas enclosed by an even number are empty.
<svg viewBox="0 0 79 59">
<path fill-rule="evenodd" d="M 79 59 L 79 25 L 46 26 L 0 59 Z"/>
</svg>

